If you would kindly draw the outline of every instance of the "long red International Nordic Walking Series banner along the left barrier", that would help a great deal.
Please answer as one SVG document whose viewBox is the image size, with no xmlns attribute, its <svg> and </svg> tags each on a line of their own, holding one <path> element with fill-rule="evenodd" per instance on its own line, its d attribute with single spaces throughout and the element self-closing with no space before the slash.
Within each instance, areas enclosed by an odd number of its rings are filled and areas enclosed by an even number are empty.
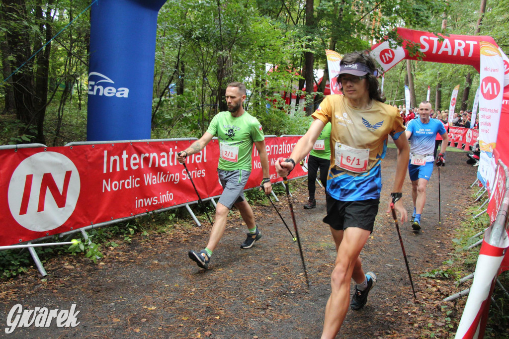
<svg viewBox="0 0 509 339">
<path fill-rule="evenodd" d="M 270 178 L 274 162 L 288 157 L 300 136 L 267 137 Z M 165 140 L 0 150 L 0 246 L 38 239 L 119 218 L 217 196 L 219 147 L 214 139 L 187 158 L 176 153 L 194 140 Z M 304 176 L 297 165 L 290 179 Z M 246 189 L 260 186 L 263 172 L 253 147 Z"/>
</svg>

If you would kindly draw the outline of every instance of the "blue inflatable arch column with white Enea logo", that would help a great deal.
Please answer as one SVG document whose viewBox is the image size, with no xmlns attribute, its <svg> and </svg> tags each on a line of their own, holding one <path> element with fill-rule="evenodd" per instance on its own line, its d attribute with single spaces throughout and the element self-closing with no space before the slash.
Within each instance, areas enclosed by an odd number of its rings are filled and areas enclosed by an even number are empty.
<svg viewBox="0 0 509 339">
<path fill-rule="evenodd" d="M 87 139 L 150 139 L 157 15 L 166 0 L 91 8 Z"/>
</svg>

